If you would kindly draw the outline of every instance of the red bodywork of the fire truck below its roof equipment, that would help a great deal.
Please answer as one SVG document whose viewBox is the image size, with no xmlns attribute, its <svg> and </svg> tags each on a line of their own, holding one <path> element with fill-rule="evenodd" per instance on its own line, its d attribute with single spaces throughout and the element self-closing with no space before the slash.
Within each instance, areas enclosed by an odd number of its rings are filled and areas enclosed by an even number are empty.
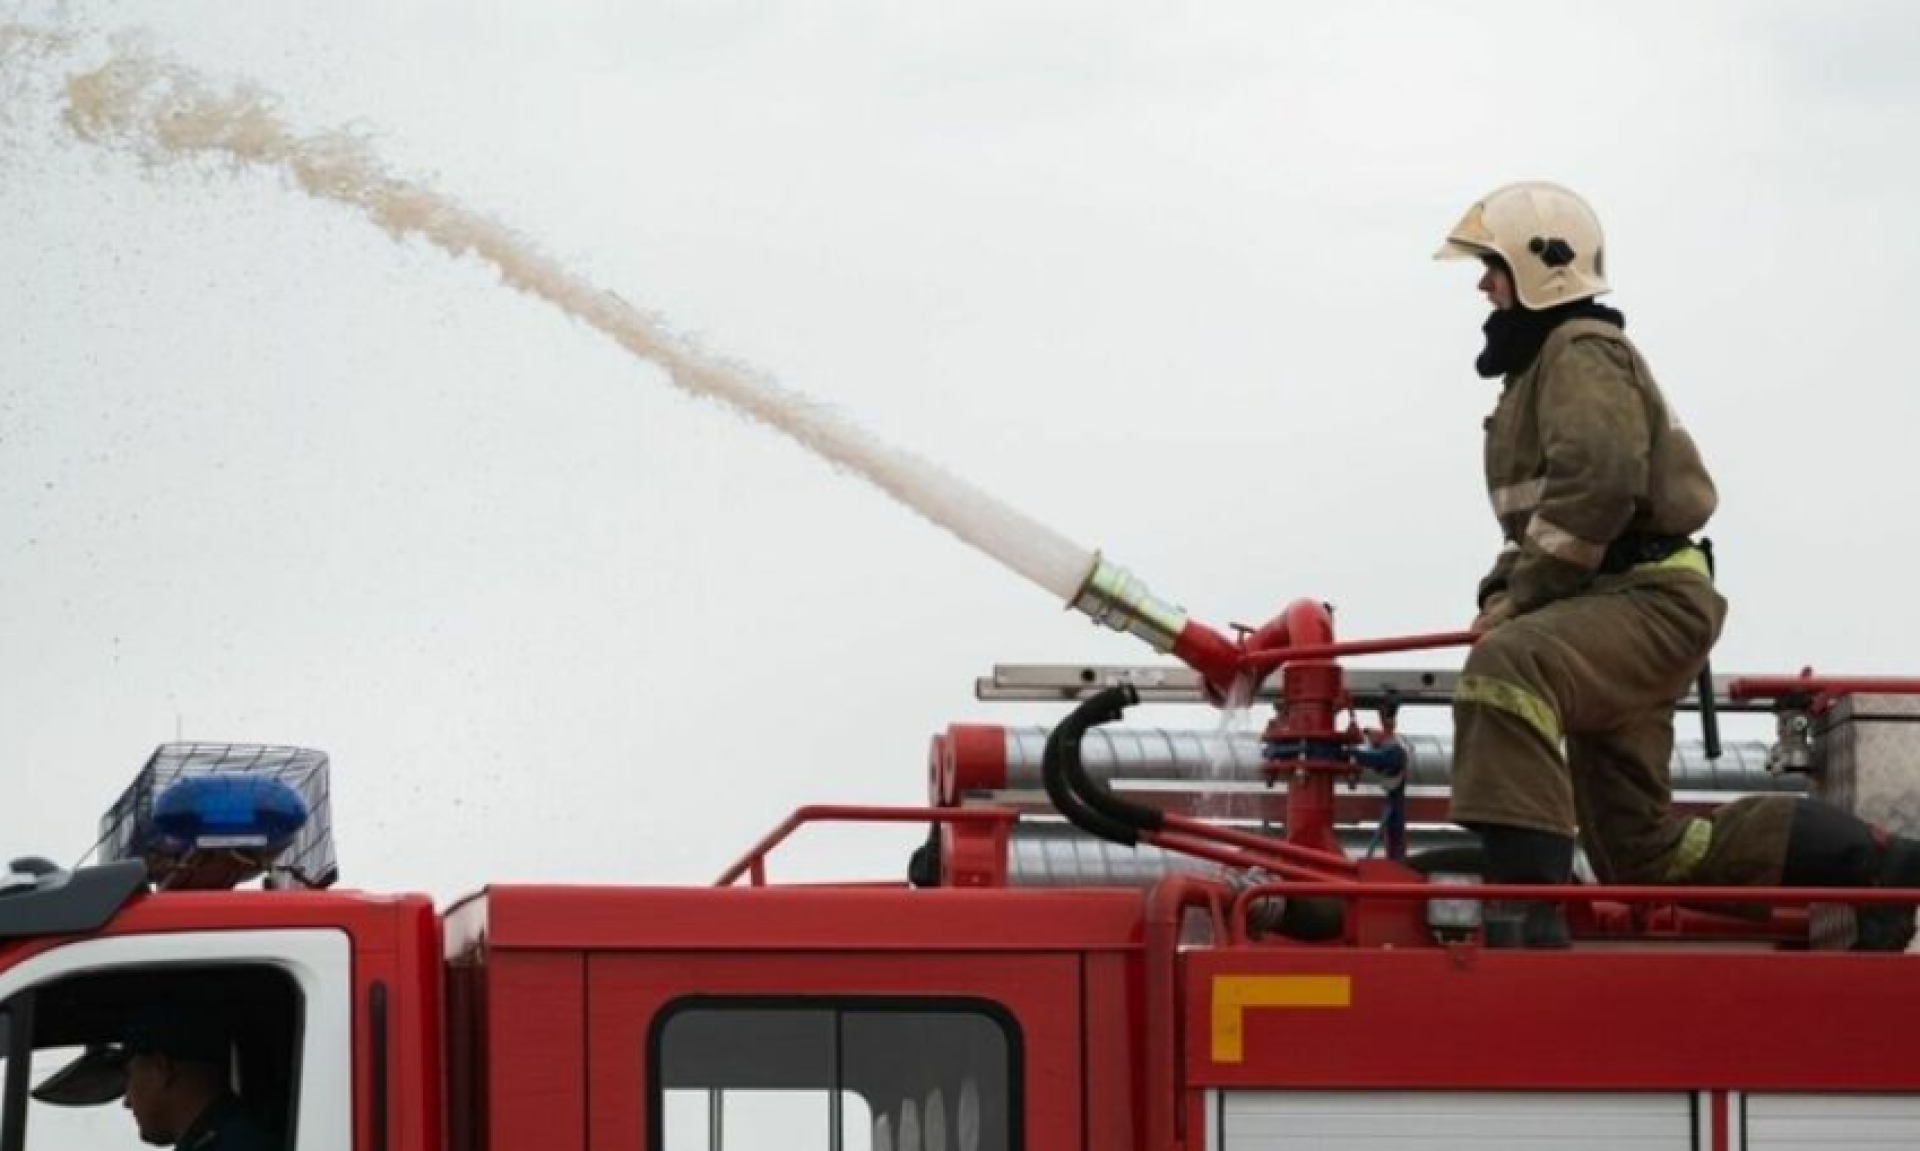
<svg viewBox="0 0 1920 1151">
<path fill-rule="evenodd" d="M 822 1122 L 778 1141 L 710 1141 L 705 1126 L 676 1139 L 653 1061 L 662 1020 L 689 1007 L 987 1018 L 1006 1041 L 987 1066 L 1010 1076 L 996 1086 L 1010 1111 L 983 1149 L 1722 1151 L 1811 1147 L 1812 1134 L 1899 1147 L 1920 1130 L 1920 967 L 1907 955 L 1179 947 L 1188 897 L 1219 913 L 1208 894 L 1181 880 L 1144 897 L 515 886 L 442 920 L 422 897 L 163 892 L 90 940 L 8 947 L 0 980 L 13 1001 L 25 988 L 8 976 L 71 949 L 100 957 L 48 968 L 56 980 L 125 965 L 292 970 L 305 1009 L 294 1147 L 876 1147 L 876 1114 L 918 1103 L 925 1116 L 933 1091 L 958 1099 L 981 1074 L 956 1059 L 947 1084 L 914 1080 L 914 1099 L 870 1097 L 858 1138 Z M 340 940 L 340 970 L 275 943 L 311 934 Z M 328 978 L 342 980 L 332 993 Z M 764 1051 L 733 1055 L 739 1078 L 714 1091 L 756 1082 L 747 1068 Z M 814 1070 L 776 1090 L 828 1091 L 829 1070 Z M 25 1136 L 40 1145 L 31 1122 Z M 956 1139 L 920 1145 L 968 1145 Z"/>
</svg>

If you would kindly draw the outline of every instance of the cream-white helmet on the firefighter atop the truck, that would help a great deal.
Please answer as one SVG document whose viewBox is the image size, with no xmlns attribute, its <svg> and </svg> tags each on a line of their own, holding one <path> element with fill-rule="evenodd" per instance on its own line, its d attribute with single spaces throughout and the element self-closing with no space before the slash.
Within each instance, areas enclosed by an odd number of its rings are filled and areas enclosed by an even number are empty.
<svg viewBox="0 0 1920 1151">
<path fill-rule="evenodd" d="M 1507 263 L 1513 292 L 1534 311 L 1611 290 L 1599 217 L 1559 184 L 1526 181 L 1488 192 L 1434 252 L 1434 259 L 1488 256 Z"/>
</svg>

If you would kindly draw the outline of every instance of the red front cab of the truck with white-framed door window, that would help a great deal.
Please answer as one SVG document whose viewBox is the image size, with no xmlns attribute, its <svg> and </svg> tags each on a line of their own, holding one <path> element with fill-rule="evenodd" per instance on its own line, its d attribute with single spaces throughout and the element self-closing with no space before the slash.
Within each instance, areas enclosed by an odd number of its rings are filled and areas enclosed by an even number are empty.
<svg viewBox="0 0 1920 1151">
<path fill-rule="evenodd" d="M 84 894 L 67 888 L 113 870 L 0 895 L 0 1145 L 140 1145 L 119 1047 L 156 1007 L 223 1020 L 230 1086 L 278 1147 L 440 1145 L 440 926 L 424 895 L 146 892 L 136 872 L 104 922 L 23 934 L 42 926 L 25 922 L 33 905 L 73 903 Z"/>
</svg>

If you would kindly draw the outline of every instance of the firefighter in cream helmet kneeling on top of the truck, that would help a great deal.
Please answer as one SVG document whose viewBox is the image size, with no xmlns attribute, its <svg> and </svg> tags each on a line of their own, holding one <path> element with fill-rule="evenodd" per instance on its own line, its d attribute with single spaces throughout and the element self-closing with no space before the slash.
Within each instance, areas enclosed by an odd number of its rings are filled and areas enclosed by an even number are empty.
<svg viewBox="0 0 1920 1151">
<path fill-rule="evenodd" d="M 1816 801 L 1670 809 L 1674 703 L 1726 619 L 1693 540 L 1716 494 L 1626 338 L 1599 219 L 1548 183 L 1467 209 L 1436 254 L 1476 259 L 1494 311 L 1476 369 L 1501 380 L 1486 486 L 1503 546 L 1453 696 L 1453 819 L 1488 882 L 1563 884 L 1574 836 L 1603 882 L 1920 886 L 1920 844 Z M 1490 945 L 1565 947 L 1557 903 L 1496 903 Z M 1912 907 L 1862 907 L 1857 947 L 1897 951 Z"/>
</svg>

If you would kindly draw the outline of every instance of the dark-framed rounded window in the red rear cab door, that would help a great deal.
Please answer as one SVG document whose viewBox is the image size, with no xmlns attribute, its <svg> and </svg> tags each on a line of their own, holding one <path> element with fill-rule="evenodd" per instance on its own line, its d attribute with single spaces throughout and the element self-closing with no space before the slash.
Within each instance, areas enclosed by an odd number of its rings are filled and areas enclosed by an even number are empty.
<svg viewBox="0 0 1920 1151">
<path fill-rule="evenodd" d="M 973 1001 L 691 999 L 653 1028 L 659 1151 L 1014 1151 L 1020 1038 Z"/>
</svg>

